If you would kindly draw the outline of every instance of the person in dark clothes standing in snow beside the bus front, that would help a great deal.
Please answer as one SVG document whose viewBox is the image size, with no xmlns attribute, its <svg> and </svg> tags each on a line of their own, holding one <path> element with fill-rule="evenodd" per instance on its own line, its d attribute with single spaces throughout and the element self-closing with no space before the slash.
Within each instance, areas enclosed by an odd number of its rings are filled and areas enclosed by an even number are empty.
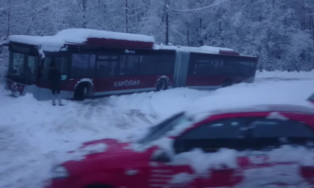
<svg viewBox="0 0 314 188">
<path fill-rule="evenodd" d="M 50 64 L 50 70 L 48 73 L 48 79 L 50 81 L 50 89 L 52 91 L 52 105 L 55 106 L 55 98 L 58 99 L 59 105 L 61 104 L 60 90 L 61 90 L 61 73 L 57 69 L 55 63 L 52 61 Z"/>
</svg>

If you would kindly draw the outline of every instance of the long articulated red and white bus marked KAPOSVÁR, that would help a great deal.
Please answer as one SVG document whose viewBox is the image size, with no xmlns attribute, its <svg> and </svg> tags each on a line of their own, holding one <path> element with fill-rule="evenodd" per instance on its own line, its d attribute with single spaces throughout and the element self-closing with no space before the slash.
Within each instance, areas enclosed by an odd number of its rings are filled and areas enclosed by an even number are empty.
<svg viewBox="0 0 314 188">
<path fill-rule="evenodd" d="M 52 97 L 49 65 L 62 73 L 61 98 L 160 91 L 218 89 L 254 82 L 258 58 L 219 47 L 155 45 L 154 38 L 92 29 L 54 36 L 9 37 L 6 88 L 15 96 Z"/>
</svg>

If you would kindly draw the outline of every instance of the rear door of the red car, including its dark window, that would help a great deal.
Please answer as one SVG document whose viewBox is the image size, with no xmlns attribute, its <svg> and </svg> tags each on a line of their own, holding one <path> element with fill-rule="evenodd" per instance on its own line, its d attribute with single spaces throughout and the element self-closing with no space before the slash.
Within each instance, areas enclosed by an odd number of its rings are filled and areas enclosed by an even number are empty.
<svg viewBox="0 0 314 188">
<path fill-rule="evenodd" d="M 314 178 L 314 131 L 302 122 L 269 118 L 254 118 L 251 168 L 244 174 L 243 186 L 296 186 L 308 184 Z M 312 164 L 306 164 L 312 157 Z"/>
</svg>

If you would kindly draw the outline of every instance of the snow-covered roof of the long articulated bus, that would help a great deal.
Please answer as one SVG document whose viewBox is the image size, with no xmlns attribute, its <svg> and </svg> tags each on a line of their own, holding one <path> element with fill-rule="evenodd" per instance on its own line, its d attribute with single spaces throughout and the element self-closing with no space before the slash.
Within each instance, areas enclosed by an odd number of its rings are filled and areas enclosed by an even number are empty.
<svg viewBox="0 0 314 188">
<path fill-rule="evenodd" d="M 96 45 L 107 47 L 146 48 L 155 50 L 165 49 L 195 53 L 248 56 L 240 54 L 234 49 L 225 47 L 183 47 L 154 45 L 155 39 L 151 36 L 81 28 L 64 29 L 54 36 L 11 35 L 9 37 L 9 41 L 23 43 L 26 45 L 41 46 L 43 51 L 60 51 L 65 49 L 63 47 L 67 45 Z"/>
</svg>

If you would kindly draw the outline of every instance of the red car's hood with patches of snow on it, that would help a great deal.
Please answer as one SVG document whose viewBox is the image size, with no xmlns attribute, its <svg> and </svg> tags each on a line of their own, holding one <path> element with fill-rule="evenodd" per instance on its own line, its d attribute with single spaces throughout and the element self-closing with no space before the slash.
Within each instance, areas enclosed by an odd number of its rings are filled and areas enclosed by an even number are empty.
<svg viewBox="0 0 314 188">
<path fill-rule="evenodd" d="M 114 139 L 89 141 L 82 144 L 78 151 L 71 151 L 73 160 L 63 165 L 71 174 L 104 169 L 125 168 L 132 163 L 147 162 L 157 147 L 136 150 L 131 142 L 121 142 Z"/>
</svg>

